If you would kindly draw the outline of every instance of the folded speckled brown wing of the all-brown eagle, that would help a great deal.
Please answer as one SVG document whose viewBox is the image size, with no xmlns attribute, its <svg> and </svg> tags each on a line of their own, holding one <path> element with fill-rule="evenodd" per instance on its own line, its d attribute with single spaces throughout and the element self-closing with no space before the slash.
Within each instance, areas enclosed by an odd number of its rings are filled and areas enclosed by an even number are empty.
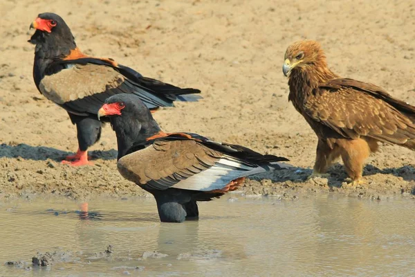
<svg viewBox="0 0 415 277">
<path fill-rule="evenodd" d="M 341 136 L 369 136 L 389 143 L 415 139 L 415 108 L 374 84 L 334 79 L 320 84 L 305 113 Z"/>
</svg>

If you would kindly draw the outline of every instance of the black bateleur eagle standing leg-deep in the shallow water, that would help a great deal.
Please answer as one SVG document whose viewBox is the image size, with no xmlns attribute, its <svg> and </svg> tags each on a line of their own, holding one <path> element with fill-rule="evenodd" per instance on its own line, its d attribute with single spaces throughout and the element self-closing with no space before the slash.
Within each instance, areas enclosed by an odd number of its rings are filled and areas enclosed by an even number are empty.
<svg viewBox="0 0 415 277">
<path fill-rule="evenodd" d="M 283 168 L 283 157 L 210 141 L 192 133 L 166 134 L 149 109 L 131 94 L 111 96 L 98 116 L 117 135 L 118 171 L 154 195 L 162 222 L 198 217 L 196 202 L 235 190 L 244 177 Z"/>
</svg>

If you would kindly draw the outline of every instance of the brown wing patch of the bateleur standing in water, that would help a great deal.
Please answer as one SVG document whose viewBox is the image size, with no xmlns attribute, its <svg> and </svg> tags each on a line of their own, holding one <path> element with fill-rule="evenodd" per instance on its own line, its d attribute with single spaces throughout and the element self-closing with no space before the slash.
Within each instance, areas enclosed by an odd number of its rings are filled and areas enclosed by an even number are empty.
<svg viewBox="0 0 415 277">
<path fill-rule="evenodd" d="M 120 174 L 136 184 L 145 185 L 150 181 L 161 180 L 161 183 L 173 186 L 180 179 L 207 170 L 221 156 L 221 152 L 193 140 L 159 140 L 143 150 L 122 157 L 117 165 Z"/>
</svg>

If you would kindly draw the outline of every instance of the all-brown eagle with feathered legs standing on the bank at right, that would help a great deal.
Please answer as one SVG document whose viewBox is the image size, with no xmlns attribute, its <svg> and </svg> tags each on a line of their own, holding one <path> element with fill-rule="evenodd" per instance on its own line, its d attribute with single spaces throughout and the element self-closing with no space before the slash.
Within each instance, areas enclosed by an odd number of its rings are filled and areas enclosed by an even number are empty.
<svg viewBox="0 0 415 277">
<path fill-rule="evenodd" d="M 361 184 L 365 159 L 378 150 L 378 141 L 415 150 L 414 106 L 374 84 L 340 78 L 328 68 L 318 42 L 295 42 L 284 59 L 288 101 L 318 137 L 310 177 L 324 175 L 342 157 L 352 184 Z"/>
</svg>

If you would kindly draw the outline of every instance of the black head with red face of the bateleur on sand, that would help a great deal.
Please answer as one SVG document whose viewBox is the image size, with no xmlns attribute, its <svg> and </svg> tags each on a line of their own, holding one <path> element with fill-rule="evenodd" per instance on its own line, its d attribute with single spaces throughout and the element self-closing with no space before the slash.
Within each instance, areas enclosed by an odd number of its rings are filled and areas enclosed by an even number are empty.
<svg viewBox="0 0 415 277">
<path fill-rule="evenodd" d="M 76 47 L 71 29 L 64 19 L 53 12 L 44 12 L 30 24 L 35 34 L 28 40 L 31 44 L 50 44 L 50 46 L 74 49 Z"/>
</svg>

